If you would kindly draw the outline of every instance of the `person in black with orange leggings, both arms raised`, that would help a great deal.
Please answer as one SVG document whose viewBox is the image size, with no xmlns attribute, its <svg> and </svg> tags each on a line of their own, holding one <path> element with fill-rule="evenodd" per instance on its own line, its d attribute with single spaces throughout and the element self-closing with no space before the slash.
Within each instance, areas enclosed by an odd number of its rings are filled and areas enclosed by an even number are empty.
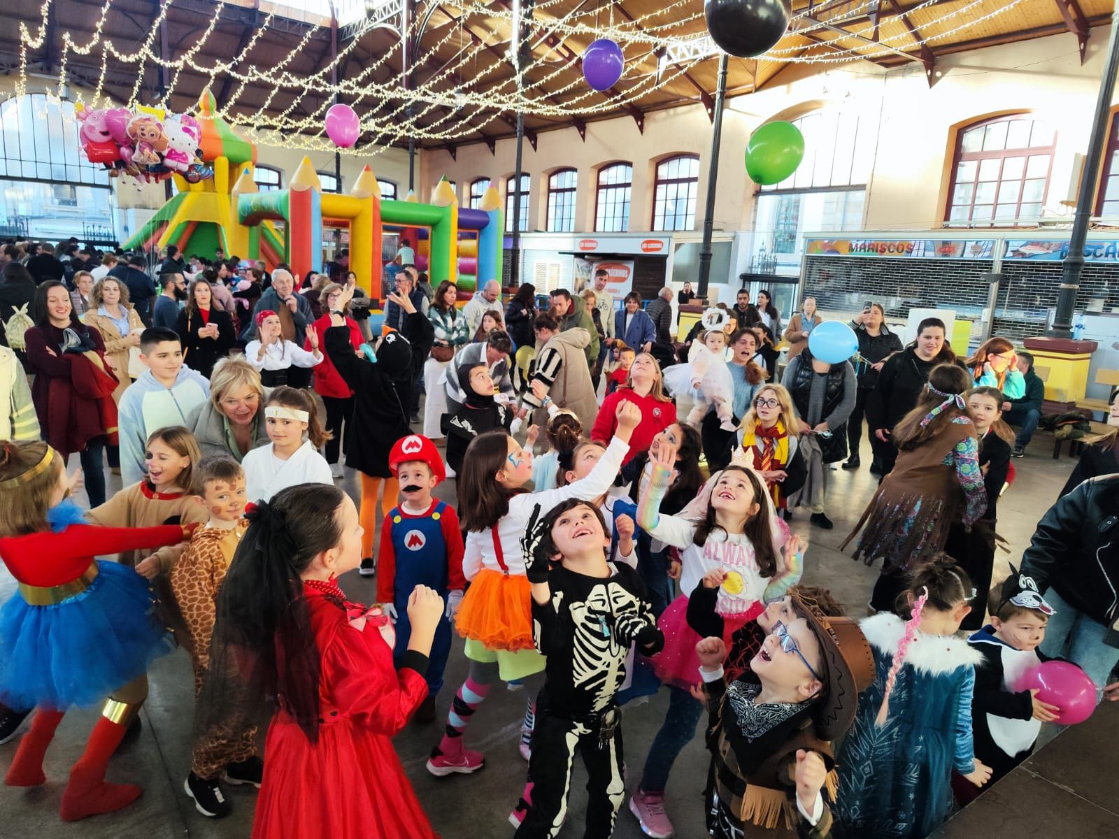
<svg viewBox="0 0 1119 839">
<path fill-rule="evenodd" d="M 354 296 L 352 285 L 347 285 L 338 299 L 340 311 Z M 399 440 L 411 433 L 408 406 L 412 389 L 431 349 L 435 332 L 431 321 L 417 312 L 412 301 L 395 292 L 388 300 L 401 307 L 407 318 L 403 332 L 388 332 L 377 339 L 376 347 L 363 345 L 365 358 L 358 358 L 349 342 L 349 330 L 341 314 L 331 312 L 331 328 L 326 333 L 326 350 L 335 369 L 354 392 L 354 427 L 359 434 L 346 439 L 346 465 L 361 477 L 361 569 L 372 576 L 376 565 L 373 559 L 373 535 L 376 528 L 377 492 L 385 484 L 380 499 L 380 515 L 387 516 L 396 503 L 399 484 L 388 468 L 389 440 Z"/>
</svg>

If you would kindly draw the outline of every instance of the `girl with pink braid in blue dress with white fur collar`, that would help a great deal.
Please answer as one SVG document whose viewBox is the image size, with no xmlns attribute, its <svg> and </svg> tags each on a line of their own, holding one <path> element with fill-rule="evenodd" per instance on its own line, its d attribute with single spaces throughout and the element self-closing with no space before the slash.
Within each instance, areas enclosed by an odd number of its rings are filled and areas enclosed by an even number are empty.
<svg viewBox="0 0 1119 839">
<path fill-rule="evenodd" d="M 913 569 L 897 600 L 904 618 L 880 612 L 859 624 L 876 676 L 836 755 L 844 836 L 921 839 L 948 818 L 953 770 L 976 786 L 990 779 L 971 741 L 982 656 L 956 635 L 974 597 L 967 573 L 940 554 Z"/>
</svg>

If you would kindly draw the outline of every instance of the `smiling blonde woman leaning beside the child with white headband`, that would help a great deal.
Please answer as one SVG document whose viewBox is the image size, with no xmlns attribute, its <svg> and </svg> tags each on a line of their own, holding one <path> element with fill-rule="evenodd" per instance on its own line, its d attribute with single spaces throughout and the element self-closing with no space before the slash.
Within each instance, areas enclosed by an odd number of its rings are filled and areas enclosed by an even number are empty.
<svg viewBox="0 0 1119 839">
<path fill-rule="evenodd" d="M 241 463 L 253 449 L 267 445 L 261 405 L 270 392 L 261 374 L 244 358 L 223 358 L 210 375 L 209 402 L 187 417 L 204 458 L 228 456 Z"/>
</svg>

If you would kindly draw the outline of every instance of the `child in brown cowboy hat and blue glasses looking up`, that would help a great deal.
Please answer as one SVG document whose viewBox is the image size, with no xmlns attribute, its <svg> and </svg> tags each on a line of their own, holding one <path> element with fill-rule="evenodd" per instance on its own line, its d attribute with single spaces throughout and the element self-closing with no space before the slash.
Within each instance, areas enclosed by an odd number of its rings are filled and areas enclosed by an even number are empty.
<svg viewBox="0 0 1119 839">
<path fill-rule="evenodd" d="M 747 669 L 724 675 L 726 644 L 696 644 L 711 725 L 707 831 L 717 839 L 830 835 L 821 788 L 835 790 L 831 743 L 848 728 L 859 689 L 874 679 L 874 658 L 848 618 L 826 615 L 793 595 L 768 621 Z M 762 615 L 759 615 L 759 623 Z"/>
</svg>

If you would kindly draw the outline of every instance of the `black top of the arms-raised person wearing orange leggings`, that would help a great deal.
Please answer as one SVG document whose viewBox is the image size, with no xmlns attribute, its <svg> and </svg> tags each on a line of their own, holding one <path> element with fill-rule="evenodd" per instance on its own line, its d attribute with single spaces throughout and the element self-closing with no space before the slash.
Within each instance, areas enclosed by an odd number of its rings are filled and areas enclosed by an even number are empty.
<svg viewBox="0 0 1119 839">
<path fill-rule="evenodd" d="M 323 336 L 330 362 L 354 392 L 354 427 L 361 430 L 346 435 L 346 463 L 372 478 L 392 478 L 388 452 L 411 433 L 412 388 L 435 340 L 431 321 L 420 311 L 405 318 L 399 334 L 406 345 L 399 346 L 404 342 L 391 332 L 377 350 L 376 364 L 354 353 L 349 327 L 331 327 Z"/>
</svg>

